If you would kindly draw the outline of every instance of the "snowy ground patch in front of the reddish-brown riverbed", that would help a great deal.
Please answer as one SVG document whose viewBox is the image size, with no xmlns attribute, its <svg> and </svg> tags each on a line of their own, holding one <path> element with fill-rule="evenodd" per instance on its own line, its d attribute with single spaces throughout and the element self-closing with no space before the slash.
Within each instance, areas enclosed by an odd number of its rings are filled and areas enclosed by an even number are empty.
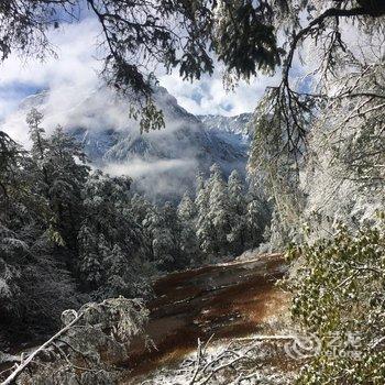
<svg viewBox="0 0 385 385">
<path fill-rule="evenodd" d="M 285 361 L 282 343 L 222 340 L 201 343 L 179 362 L 163 366 L 130 384 L 141 385 L 254 385 L 292 384 L 296 366 Z"/>
</svg>

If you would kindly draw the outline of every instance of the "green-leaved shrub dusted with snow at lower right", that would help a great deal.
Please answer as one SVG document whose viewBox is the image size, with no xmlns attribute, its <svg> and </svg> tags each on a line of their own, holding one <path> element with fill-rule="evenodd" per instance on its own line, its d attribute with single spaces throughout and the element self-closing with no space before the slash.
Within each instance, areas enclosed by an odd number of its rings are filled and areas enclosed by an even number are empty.
<svg viewBox="0 0 385 385">
<path fill-rule="evenodd" d="M 290 279 L 292 314 L 321 341 L 297 384 L 384 382 L 384 235 L 382 216 L 358 232 L 339 224 L 329 240 L 290 245 L 289 258 L 302 260 Z"/>
</svg>

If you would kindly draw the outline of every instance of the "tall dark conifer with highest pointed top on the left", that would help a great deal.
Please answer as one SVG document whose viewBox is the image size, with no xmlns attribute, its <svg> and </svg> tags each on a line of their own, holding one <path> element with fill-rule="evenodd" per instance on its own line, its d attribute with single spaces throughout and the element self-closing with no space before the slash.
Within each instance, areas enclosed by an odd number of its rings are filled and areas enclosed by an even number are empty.
<svg viewBox="0 0 385 385">
<path fill-rule="evenodd" d="M 43 114 L 32 109 L 26 121 L 32 141 L 26 167 L 33 179 L 33 191 L 46 200 L 42 211 L 50 239 L 67 244 L 76 252 L 76 238 L 81 222 L 81 189 L 89 174 L 81 145 L 57 127 L 50 138 L 41 127 Z M 68 253 L 67 253 L 68 254 Z M 74 267 L 73 261 L 67 261 Z"/>
</svg>

